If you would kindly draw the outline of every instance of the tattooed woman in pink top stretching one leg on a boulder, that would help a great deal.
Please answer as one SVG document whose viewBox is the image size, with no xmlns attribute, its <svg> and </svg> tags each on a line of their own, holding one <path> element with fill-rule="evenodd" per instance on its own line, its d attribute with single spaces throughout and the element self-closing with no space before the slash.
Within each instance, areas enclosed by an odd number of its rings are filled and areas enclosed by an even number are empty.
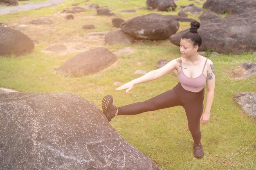
<svg viewBox="0 0 256 170">
<path fill-rule="evenodd" d="M 214 96 L 215 71 L 211 60 L 198 54 L 198 48 L 202 44 L 202 39 L 197 32 L 199 27 L 199 22 L 192 21 L 190 30 L 182 35 L 180 40 L 182 57 L 116 88 L 116 90 L 127 89 L 126 92 L 128 92 L 136 84 L 158 79 L 176 69 L 179 83 L 172 90 L 144 102 L 118 108 L 113 104 L 112 96 L 107 95 L 102 100 L 102 109 L 108 121 L 110 121 L 116 115 L 136 115 L 173 106 L 183 106 L 186 111 L 189 130 L 194 140 L 193 155 L 202 158 L 204 152 L 200 143 L 200 122 L 204 124 L 209 121 Z M 207 83 L 207 95 L 203 112 L 205 82 Z"/>
</svg>

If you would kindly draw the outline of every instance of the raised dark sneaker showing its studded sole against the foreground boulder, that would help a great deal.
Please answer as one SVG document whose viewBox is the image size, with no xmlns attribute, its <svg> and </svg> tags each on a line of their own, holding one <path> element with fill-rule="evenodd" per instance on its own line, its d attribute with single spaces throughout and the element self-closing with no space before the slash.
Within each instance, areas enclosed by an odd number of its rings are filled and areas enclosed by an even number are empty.
<svg viewBox="0 0 256 170">
<path fill-rule="evenodd" d="M 117 106 L 113 104 L 112 95 L 106 95 L 102 99 L 102 111 L 106 115 L 108 121 L 111 121 L 113 117 L 115 117 L 115 113 L 117 112 Z"/>
</svg>

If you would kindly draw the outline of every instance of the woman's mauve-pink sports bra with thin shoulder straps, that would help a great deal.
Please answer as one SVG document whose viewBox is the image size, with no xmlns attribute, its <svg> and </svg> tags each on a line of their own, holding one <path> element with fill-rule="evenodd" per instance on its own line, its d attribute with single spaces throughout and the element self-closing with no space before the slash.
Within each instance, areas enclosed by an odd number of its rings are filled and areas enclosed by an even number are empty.
<svg viewBox="0 0 256 170">
<path fill-rule="evenodd" d="M 206 59 L 204 63 L 204 67 L 206 65 L 208 59 Z M 192 92 L 198 92 L 201 91 L 204 88 L 204 84 L 207 80 L 207 78 L 204 76 L 204 68 L 200 76 L 196 78 L 190 78 L 184 75 L 182 71 L 182 60 L 180 58 L 180 64 L 181 64 L 181 70 L 180 73 L 178 74 L 178 80 L 181 84 L 181 86 L 186 90 L 186 91 L 192 91 Z"/>
</svg>

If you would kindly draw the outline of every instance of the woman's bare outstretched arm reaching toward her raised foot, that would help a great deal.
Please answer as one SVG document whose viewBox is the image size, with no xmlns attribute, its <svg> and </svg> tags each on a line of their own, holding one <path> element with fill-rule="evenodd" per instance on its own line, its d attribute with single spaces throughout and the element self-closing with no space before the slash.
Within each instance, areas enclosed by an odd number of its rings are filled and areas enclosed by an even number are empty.
<svg viewBox="0 0 256 170">
<path fill-rule="evenodd" d="M 159 69 L 150 71 L 150 72 L 146 73 L 145 75 L 143 75 L 143 76 L 141 76 L 137 79 L 133 79 L 132 81 L 130 81 L 126 84 L 123 84 L 122 86 L 116 88 L 116 90 L 123 90 L 123 89 L 127 88 L 126 92 L 128 92 L 136 84 L 149 82 L 151 80 L 158 79 L 158 78 L 160 78 L 160 77 L 162 77 L 162 76 L 164 76 L 168 73 L 171 73 L 174 69 L 176 69 L 176 66 L 177 66 L 177 59 L 171 60 L 165 66 L 163 66 Z"/>
</svg>

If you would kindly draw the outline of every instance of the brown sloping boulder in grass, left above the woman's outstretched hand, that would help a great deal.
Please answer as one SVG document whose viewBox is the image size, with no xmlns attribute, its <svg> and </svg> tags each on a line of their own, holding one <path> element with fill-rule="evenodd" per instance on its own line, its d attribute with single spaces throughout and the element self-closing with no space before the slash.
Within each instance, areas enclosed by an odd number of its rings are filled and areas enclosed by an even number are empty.
<svg viewBox="0 0 256 170">
<path fill-rule="evenodd" d="M 72 57 L 56 71 L 65 76 L 69 74 L 74 77 L 90 75 L 107 68 L 116 60 L 117 56 L 115 54 L 104 47 L 98 47 Z"/>
</svg>

